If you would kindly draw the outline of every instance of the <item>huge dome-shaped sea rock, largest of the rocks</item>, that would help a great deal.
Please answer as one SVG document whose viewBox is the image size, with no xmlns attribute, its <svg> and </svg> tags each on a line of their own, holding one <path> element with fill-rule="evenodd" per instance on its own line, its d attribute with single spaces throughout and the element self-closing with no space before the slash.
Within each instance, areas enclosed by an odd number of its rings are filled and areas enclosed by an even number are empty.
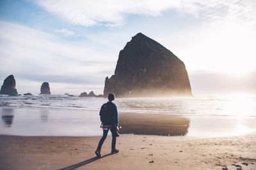
<svg viewBox="0 0 256 170">
<path fill-rule="evenodd" d="M 115 74 L 106 77 L 104 97 L 192 95 L 182 60 L 142 33 L 120 51 Z"/>
</svg>

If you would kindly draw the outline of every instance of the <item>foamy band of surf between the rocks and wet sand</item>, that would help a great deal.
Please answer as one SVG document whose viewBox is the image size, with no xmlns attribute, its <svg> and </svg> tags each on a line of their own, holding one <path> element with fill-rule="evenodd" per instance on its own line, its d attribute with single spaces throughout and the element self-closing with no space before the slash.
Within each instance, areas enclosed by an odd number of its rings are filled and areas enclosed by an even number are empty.
<svg viewBox="0 0 256 170">
<path fill-rule="evenodd" d="M 0 107 L 99 111 L 103 103 L 106 99 L 99 97 L 0 95 Z M 115 103 L 118 111 L 125 113 L 256 116 L 256 97 L 238 101 L 234 97 L 223 96 L 118 98 Z"/>
</svg>

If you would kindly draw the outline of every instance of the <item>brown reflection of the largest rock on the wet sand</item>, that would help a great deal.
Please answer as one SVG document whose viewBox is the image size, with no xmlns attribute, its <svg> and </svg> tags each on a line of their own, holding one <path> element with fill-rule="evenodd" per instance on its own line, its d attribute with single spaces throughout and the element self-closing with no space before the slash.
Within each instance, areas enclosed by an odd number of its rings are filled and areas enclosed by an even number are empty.
<svg viewBox="0 0 256 170">
<path fill-rule="evenodd" d="M 188 133 L 189 118 L 175 115 L 120 113 L 121 134 L 184 136 Z"/>
</svg>

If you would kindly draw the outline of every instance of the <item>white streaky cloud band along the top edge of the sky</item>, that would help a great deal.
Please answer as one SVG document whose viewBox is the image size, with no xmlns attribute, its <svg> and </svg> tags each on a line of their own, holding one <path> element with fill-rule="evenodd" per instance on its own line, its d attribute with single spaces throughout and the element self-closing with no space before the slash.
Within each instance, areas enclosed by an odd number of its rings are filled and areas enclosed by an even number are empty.
<svg viewBox="0 0 256 170">
<path fill-rule="evenodd" d="M 240 24 L 255 26 L 256 2 L 253 0 L 35 0 L 49 13 L 71 24 L 122 25 L 127 15 L 161 15 L 166 10 L 193 15 L 204 20 L 236 20 Z"/>
</svg>

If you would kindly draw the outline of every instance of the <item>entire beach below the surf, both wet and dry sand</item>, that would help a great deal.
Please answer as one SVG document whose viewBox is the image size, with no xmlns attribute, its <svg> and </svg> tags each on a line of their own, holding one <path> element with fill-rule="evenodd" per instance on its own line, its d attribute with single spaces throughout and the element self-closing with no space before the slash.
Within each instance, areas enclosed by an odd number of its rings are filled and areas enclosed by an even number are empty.
<svg viewBox="0 0 256 170">
<path fill-rule="evenodd" d="M 120 152 L 109 154 L 108 136 L 97 159 L 99 111 L 2 107 L 0 113 L 0 169 L 256 169 L 253 116 L 120 111 Z"/>
</svg>

